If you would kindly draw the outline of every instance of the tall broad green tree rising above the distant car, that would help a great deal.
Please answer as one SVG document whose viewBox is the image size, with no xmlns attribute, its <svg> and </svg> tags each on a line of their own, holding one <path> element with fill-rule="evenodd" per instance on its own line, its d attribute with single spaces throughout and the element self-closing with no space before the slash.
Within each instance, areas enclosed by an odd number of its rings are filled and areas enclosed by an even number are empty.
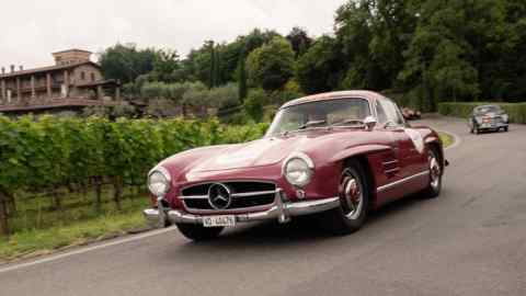
<svg viewBox="0 0 526 296">
<path fill-rule="evenodd" d="M 493 60 L 505 45 L 502 1 L 427 0 L 419 15 L 399 75 L 404 89 L 423 95 L 421 105 L 428 110 L 442 100 L 476 100 L 490 93 L 481 91 L 483 84 L 495 86 L 481 81 L 499 76 L 492 68 L 498 68 L 499 59 Z"/>
</svg>

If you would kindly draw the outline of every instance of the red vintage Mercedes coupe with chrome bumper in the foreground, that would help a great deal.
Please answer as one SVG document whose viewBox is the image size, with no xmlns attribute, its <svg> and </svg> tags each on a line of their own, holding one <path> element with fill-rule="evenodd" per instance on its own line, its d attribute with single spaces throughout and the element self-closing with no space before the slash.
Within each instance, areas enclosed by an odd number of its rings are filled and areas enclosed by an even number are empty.
<svg viewBox="0 0 526 296">
<path fill-rule="evenodd" d="M 437 133 L 411 127 L 391 100 L 370 91 L 322 93 L 283 105 L 262 139 L 161 161 L 148 175 L 155 206 L 144 214 L 192 240 L 302 215 L 350 234 L 390 201 L 438 196 L 445 163 Z"/>
</svg>

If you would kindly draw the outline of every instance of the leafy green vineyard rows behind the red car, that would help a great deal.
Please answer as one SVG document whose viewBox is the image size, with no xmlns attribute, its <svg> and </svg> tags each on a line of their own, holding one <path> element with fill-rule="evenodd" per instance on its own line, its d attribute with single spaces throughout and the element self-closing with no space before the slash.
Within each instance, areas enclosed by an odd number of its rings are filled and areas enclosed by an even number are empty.
<svg viewBox="0 0 526 296">
<path fill-rule="evenodd" d="M 49 200 L 48 208 L 38 207 L 39 217 L 42 210 L 60 216 L 76 205 L 99 213 L 112 203 L 121 210 L 125 192 L 145 192 L 146 175 L 159 160 L 194 147 L 252 140 L 266 128 L 216 119 L 0 116 L 0 234 L 19 230 L 10 219 L 35 196 Z M 39 219 L 30 217 L 25 228 L 37 228 Z"/>
</svg>

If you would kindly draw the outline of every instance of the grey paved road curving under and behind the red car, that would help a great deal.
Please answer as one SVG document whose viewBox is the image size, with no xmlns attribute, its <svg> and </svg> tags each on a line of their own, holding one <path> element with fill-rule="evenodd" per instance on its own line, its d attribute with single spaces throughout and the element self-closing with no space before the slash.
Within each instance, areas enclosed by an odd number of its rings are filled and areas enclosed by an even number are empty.
<svg viewBox="0 0 526 296">
<path fill-rule="evenodd" d="M 526 126 L 464 122 L 439 198 L 409 198 L 347 237 L 308 221 L 192 243 L 174 230 L 0 269 L 0 295 L 526 295 Z"/>
</svg>

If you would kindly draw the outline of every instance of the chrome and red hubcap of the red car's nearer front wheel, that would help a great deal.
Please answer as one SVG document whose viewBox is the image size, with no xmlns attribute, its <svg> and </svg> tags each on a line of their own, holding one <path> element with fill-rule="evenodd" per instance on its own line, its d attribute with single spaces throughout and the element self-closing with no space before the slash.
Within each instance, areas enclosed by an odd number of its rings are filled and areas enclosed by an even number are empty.
<svg viewBox="0 0 526 296">
<path fill-rule="evenodd" d="M 344 173 L 341 192 L 344 215 L 347 219 L 356 219 L 362 213 L 364 198 L 359 181 L 348 171 Z"/>
</svg>

